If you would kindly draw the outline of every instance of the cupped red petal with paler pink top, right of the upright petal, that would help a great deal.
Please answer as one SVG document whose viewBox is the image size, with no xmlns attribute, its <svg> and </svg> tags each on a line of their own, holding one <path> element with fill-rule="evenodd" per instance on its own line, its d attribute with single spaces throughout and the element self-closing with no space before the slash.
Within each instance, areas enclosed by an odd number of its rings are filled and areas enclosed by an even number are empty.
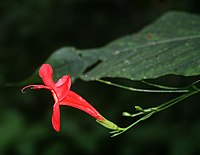
<svg viewBox="0 0 200 155">
<path fill-rule="evenodd" d="M 59 101 L 62 101 L 66 97 L 66 95 L 71 87 L 70 75 L 63 76 L 62 78 L 60 78 L 55 86 L 56 86 L 56 88 L 55 88 L 56 95 L 57 95 Z"/>
</svg>

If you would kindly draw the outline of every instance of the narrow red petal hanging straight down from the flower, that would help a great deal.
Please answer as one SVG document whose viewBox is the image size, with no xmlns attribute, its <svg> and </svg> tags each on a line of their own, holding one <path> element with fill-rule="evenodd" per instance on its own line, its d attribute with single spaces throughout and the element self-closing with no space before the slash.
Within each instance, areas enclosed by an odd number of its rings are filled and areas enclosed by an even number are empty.
<svg viewBox="0 0 200 155">
<path fill-rule="evenodd" d="M 53 106 L 52 125 L 57 132 L 60 131 L 60 107 L 58 103 Z"/>
</svg>

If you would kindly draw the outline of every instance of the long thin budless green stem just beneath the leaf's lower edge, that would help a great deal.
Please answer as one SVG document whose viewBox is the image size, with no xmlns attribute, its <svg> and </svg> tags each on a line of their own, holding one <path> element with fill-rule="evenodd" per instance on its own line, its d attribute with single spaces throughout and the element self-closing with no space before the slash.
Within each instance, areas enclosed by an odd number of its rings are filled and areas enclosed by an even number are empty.
<svg viewBox="0 0 200 155">
<path fill-rule="evenodd" d="M 110 81 L 105 81 L 105 80 L 102 80 L 102 79 L 97 79 L 96 81 L 99 81 L 99 82 L 102 82 L 102 83 L 105 83 L 105 84 L 108 84 L 108 85 L 112 85 L 112 86 L 115 86 L 115 87 L 123 88 L 123 89 L 126 89 L 126 90 L 130 90 L 130 91 L 137 91 L 137 92 L 146 92 L 146 93 L 187 93 L 187 92 L 190 92 L 190 90 L 187 89 L 187 88 L 186 89 L 179 89 L 179 88 L 173 88 L 173 89 L 171 88 L 170 89 L 170 87 L 166 87 L 166 88 L 169 88 L 169 89 L 166 89 L 166 90 L 149 90 L 149 89 L 138 89 L 138 88 L 133 88 L 133 87 L 127 87 L 127 86 L 124 86 L 124 85 L 112 83 Z"/>
</svg>

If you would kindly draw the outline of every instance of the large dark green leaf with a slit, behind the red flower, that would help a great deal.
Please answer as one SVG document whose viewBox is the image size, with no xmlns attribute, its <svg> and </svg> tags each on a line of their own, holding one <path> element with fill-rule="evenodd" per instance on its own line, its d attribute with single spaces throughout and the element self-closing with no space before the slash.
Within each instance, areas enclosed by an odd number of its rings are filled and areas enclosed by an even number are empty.
<svg viewBox="0 0 200 155">
<path fill-rule="evenodd" d="M 72 78 L 83 80 L 199 75 L 200 17 L 170 12 L 140 32 L 105 47 L 90 50 L 62 48 L 45 63 L 53 66 L 56 79 L 68 73 Z"/>
</svg>

